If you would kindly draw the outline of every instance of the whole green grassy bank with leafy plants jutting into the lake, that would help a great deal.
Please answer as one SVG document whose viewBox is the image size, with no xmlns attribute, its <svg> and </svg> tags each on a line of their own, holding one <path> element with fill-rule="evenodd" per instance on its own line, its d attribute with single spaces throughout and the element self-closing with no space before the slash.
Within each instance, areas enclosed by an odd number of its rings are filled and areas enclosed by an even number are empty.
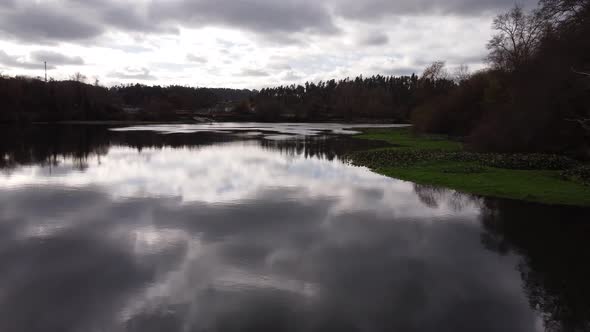
<svg viewBox="0 0 590 332">
<path fill-rule="evenodd" d="M 392 144 L 350 156 L 353 164 L 386 176 L 485 196 L 590 206 L 590 186 L 565 176 L 579 166 L 565 157 L 471 153 L 460 142 L 416 136 L 409 128 L 370 129 L 356 137 Z"/>
</svg>

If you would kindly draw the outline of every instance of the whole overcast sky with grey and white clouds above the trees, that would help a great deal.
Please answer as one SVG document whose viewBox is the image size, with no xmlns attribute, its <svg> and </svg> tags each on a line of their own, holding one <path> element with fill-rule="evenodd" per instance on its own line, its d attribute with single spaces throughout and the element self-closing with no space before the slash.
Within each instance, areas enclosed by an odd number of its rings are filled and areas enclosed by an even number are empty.
<svg viewBox="0 0 590 332">
<path fill-rule="evenodd" d="M 523 0 L 525 6 L 534 0 Z M 0 0 L 0 73 L 260 89 L 485 66 L 514 0 Z"/>
</svg>

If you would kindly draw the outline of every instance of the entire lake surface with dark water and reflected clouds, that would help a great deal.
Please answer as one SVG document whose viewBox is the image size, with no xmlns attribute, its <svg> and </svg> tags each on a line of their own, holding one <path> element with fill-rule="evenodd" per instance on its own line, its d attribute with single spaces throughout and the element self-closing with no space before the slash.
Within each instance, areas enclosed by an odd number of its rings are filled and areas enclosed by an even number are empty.
<svg viewBox="0 0 590 332">
<path fill-rule="evenodd" d="M 3 128 L 0 331 L 590 330 L 588 209 L 277 135 Z"/>
</svg>

